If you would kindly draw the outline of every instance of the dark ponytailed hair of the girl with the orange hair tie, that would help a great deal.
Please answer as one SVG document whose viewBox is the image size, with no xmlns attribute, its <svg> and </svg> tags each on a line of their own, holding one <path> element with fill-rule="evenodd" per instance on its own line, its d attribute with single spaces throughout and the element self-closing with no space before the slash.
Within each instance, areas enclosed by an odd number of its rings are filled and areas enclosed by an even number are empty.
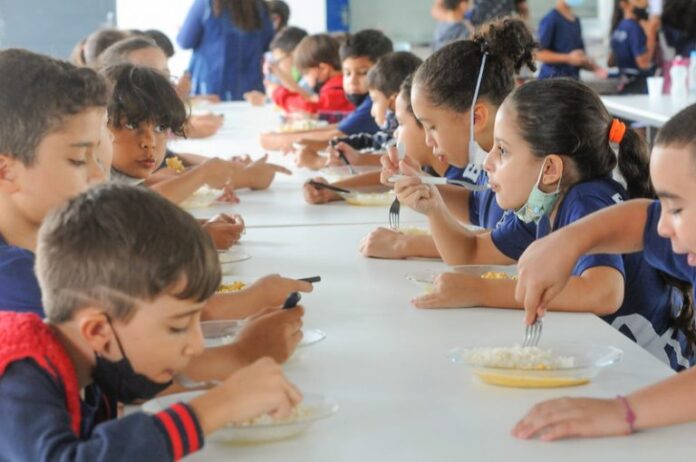
<svg viewBox="0 0 696 462">
<path fill-rule="evenodd" d="M 516 113 L 524 140 L 537 157 L 569 158 L 579 178 L 588 181 L 610 175 L 617 155 L 609 142 L 614 120 L 599 95 L 574 79 L 530 81 L 505 100 Z M 654 197 L 650 184 L 648 147 L 631 128 L 619 144 L 618 166 L 631 198 Z"/>
</svg>

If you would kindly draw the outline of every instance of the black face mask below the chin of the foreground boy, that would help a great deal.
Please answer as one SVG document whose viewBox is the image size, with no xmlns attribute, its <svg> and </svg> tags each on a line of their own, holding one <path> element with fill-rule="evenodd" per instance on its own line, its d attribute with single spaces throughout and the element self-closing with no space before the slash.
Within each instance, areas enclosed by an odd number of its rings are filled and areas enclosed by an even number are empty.
<svg viewBox="0 0 696 462">
<path fill-rule="evenodd" d="M 111 324 L 111 321 L 109 321 Z M 113 326 L 111 327 L 113 330 Z M 108 396 L 115 397 L 123 404 L 130 404 L 137 400 L 150 399 L 163 391 L 172 384 L 172 381 L 158 383 L 148 379 L 143 374 L 133 370 L 133 366 L 123 351 L 121 341 L 116 335 L 116 343 L 121 350 L 123 359 L 119 361 L 109 361 L 99 355 L 97 365 L 92 371 L 92 379 Z"/>
</svg>

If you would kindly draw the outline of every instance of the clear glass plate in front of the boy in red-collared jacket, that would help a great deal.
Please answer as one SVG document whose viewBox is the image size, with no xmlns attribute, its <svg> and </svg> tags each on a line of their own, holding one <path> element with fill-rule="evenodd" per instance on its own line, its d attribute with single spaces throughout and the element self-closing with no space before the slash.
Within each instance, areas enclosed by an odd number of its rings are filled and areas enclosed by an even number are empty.
<svg viewBox="0 0 696 462">
<path fill-rule="evenodd" d="M 155 414 L 178 402 L 187 402 L 205 393 L 191 391 L 152 399 L 142 405 L 144 412 Z M 338 403 L 321 394 L 308 393 L 300 404 L 302 414 L 290 421 L 259 423 L 248 426 L 227 425 L 212 434 L 208 440 L 226 444 L 259 444 L 296 437 L 315 422 L 338 412 Z"/>
</svg>

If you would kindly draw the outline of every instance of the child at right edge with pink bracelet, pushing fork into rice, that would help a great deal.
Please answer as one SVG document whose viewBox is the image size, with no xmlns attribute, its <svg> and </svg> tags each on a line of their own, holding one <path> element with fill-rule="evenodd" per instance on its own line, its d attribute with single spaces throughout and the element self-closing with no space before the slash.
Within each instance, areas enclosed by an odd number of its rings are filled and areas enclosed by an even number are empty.
<svg viewBox="0 0 696 462">
<path fill-rule="evenodd" d="M 670 276 L 696 283 L 696 105 L 672 117 L 655 140 L 650 178 L 659 201 L 635 200 L 585 217 L 532 244 L 519 261 L 517 299 L 526 322 L 541 316 L 583 254 L 637 252 Z M 679 321 L 691 330 L 693 304 Z M 513 429 L 519 438 L 626 435 L 696 421 L 696 370 L 618 399 L 564 398 L 536 405 Z"/>
</svg>

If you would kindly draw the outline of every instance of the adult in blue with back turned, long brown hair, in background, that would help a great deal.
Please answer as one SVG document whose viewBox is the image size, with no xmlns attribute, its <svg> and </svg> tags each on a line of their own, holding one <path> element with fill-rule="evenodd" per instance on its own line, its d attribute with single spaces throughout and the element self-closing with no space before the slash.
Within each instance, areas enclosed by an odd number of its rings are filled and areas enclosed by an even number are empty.
<svg viewBox="0 0 696 462">
<path fill-rule="evenodd" d="M 177 36 L 182 48 L 193 49 L 193 94 L 240 101 L 246 92 L 263 91 L 263 54 L 272 39 L 262 0 L 195 0 Z"/>
</svg>

